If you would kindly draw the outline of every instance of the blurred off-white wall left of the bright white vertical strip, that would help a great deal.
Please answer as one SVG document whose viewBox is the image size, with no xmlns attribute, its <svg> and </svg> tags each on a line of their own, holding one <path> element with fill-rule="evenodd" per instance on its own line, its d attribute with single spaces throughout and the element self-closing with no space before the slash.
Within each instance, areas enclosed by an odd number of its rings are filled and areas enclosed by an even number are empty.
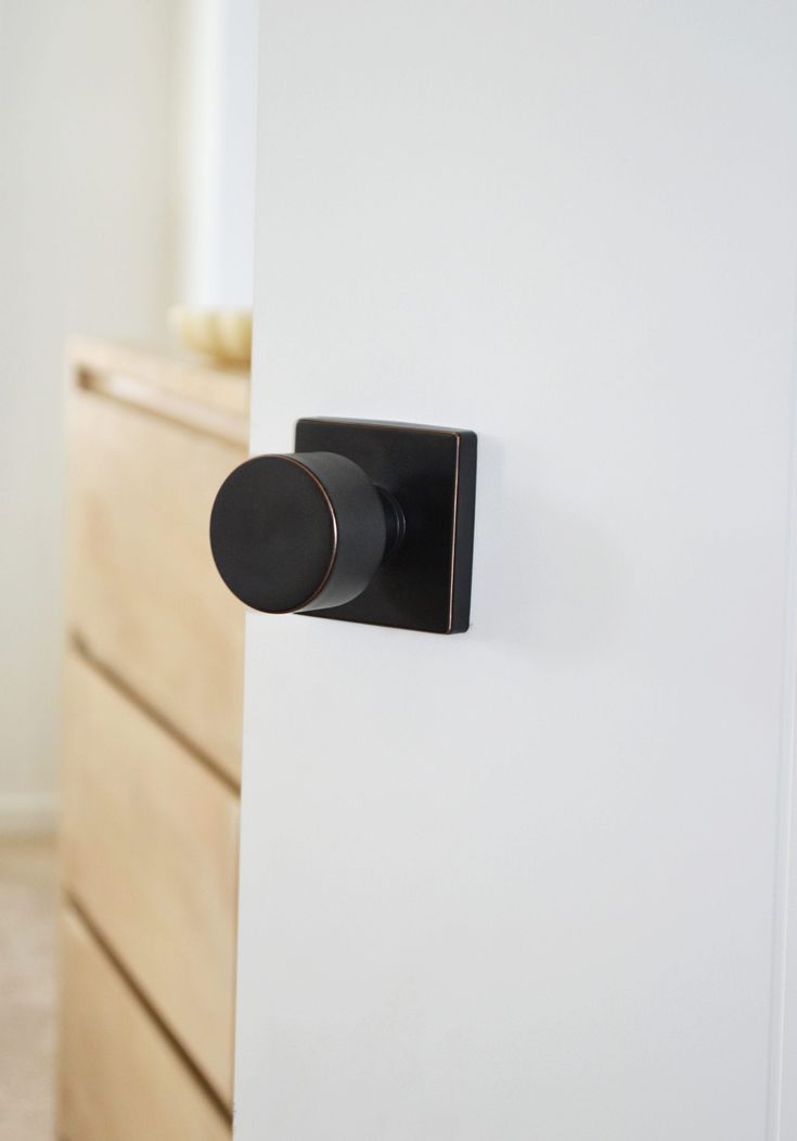
<svg viewBox="0 0 797 1141">
<path fill-rule="evenodd" d="M 0 0 L 0 830 L 57 758 L 66 335 L 162 334 L 169 0 Z"/>
</svg>

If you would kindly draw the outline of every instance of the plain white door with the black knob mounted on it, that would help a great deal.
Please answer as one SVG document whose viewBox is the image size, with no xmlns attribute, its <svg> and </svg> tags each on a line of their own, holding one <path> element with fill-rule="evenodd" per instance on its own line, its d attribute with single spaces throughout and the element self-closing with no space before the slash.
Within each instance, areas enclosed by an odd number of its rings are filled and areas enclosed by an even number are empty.
<svg viewBox="0 0 797 1141">
<path fill-rule="evenodd" d="M 253 452 L 480 453 L 467 633 L 250 617 L 237 1141 L 794 1141 L 797 5 L 268 0 L 258 210 Z"/>
</svg>

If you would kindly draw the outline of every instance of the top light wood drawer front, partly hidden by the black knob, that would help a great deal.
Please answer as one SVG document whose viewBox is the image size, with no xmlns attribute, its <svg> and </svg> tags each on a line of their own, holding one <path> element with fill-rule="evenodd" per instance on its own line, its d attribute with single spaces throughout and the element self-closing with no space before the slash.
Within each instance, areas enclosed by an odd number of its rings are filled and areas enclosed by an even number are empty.
<svg viewBox="0 0 797 1141">
<path fill-rule="evenodd" d="M 239 445 L 76 387 L 68 622 L 90 653 L 239 778 L 243 612 L 215 572 L 213 497 Z"/>
</svg>

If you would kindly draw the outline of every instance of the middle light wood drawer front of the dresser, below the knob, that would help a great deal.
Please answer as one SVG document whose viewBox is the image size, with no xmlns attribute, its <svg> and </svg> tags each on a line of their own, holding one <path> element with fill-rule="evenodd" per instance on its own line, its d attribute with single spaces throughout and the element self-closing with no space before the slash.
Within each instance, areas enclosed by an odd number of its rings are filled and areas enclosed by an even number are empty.
<svg viewBox="0 0 797 1141">
<path fill-rule="evenodd" d="M 74 653 L 65 696 L 64 884 L 230 1103 L 238 799 Z"/>
</svg>

